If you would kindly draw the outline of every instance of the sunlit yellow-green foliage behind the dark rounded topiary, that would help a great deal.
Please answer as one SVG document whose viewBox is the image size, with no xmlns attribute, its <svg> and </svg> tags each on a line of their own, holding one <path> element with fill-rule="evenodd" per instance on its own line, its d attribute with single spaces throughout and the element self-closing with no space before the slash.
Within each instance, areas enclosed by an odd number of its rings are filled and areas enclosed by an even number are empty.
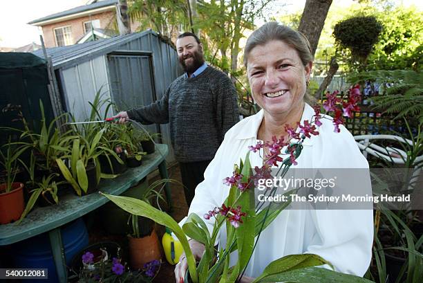
<svg viewBox="0 0 423 283">
<path fill-rule="evenodd" d="M 301 10 L 278 20 L 289 26 L 298 26 Z M 329 62 L 335 55 L 335 37 L 332 36 L 335 24 L 350 17 L 374 16 L 383 28 L 379 41 L 367 58 L 367 70 L 422 69 L 423 61 L 423 17 L 415 7 L 394 6 L 387 1 L 364 1 L 350 7 L 332 4 L 325 26 L 314 55 L 314 63 Z M 359 63 L 350 62 L 350 51 L 344 49 L 338 54 L 341 71 L 355 71 Z M 325 65 L 314 64 L 314 71 L 325 71 Z M 327 70 L 326 70 L 327 71 Z"/>
</svg>

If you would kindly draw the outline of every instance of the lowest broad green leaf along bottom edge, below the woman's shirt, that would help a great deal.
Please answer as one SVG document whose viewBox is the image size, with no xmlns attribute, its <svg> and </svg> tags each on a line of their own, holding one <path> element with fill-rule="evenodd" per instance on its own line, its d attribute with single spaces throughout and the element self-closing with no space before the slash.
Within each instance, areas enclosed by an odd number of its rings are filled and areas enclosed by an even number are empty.
<svg viewBox="0 0 423 283">
<path fill-rule="evenodd" d="M 355 275 L 330 271 L 326 268 L 308 267 L 287 271 L 277 275 L 270 275 L 259 282 L 292 282 L 292 283 L 370 283 L 372 281 Z"/>
</svg>

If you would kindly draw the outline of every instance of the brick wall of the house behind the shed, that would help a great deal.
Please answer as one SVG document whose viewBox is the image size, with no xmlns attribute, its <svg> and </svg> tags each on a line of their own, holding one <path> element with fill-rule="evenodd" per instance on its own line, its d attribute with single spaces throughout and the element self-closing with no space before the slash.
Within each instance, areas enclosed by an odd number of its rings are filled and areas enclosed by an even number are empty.
<svg viewBox="0 0 423 283">
<path fill-rule="evenodd" d="M 115 19 L 115 11 L 102 12 L 100 14 L 80 17 L 77 19 L 69 19 L 55 24 L 48 24 L 43 26 L 44 44 L 46 47 L 57 46 L 55 40 L 55 28 L 62 28 L 64 26 L 71 26 L 72 29 L 72 42 L 75 44 L 84 35 L 84 22 L 100 19 L 100 28 L 113 29 L 113 20 Z"/>
</svg>

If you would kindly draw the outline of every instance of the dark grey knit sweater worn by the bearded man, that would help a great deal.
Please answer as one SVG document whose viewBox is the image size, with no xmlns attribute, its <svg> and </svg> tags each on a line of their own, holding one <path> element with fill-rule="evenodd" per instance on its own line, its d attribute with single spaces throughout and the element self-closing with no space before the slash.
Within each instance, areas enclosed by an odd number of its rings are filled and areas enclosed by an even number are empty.
<svg viewBox="0 0 423 283">
<path fill-rule="evenodd" d="M 179 162 L 213 159 L 226 131 L 239 121 L 234 85 L 211 66 L 196 77 L 178 77 L 162 99 L 127 113 L 145 125 L 170 122 Z"/>
</svg>

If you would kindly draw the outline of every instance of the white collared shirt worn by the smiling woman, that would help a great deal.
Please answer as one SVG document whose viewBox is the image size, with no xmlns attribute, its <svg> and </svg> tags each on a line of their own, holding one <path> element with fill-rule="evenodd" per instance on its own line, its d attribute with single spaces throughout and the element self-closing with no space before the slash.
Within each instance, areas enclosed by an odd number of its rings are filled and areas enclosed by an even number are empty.
<svg viewBox="0 0 423 283">
<path fill-rule="evenodd" d="M 310 121 L 313 115 L 314 110 L 306 104 L 301 124 L 304 120 Z M 263 110 L 227 131 L 225 140 L 205 171 L 205 181 L 196 188 L 189 214 L 194 212 L 203 217 L 209 210 L 222 205 L 229 193 L 223 179 L 232 176 L 234 164 L 245 158 L 248 146 L 256 145 L 262 120 Z M 319 135 L 304 140 L 295 167 L 368 168 L 366 158 L 344 126 L 340 127 L 340 133 L 335 133 L 331 120 L 322 119 L 321 122 Z M 263 164 L 259 153 L 253 152 L 250 162 L 253 168 Z M 210 231 L 213 221 L 213 217 L 205 220 Z M 224 245 L 224 229 L 219 237 L 220 245 Z M 285 255 L 314 253 L 331 262 L 337 271 L 362 276 L 370 264 L 372 244 L 372 210 L 284 210 L 262 232 L 245 275 L 257 277 L 267 264 Z M 234 255 L 231 264 L 236 263 L 236 253 Z"/>
</svg>

